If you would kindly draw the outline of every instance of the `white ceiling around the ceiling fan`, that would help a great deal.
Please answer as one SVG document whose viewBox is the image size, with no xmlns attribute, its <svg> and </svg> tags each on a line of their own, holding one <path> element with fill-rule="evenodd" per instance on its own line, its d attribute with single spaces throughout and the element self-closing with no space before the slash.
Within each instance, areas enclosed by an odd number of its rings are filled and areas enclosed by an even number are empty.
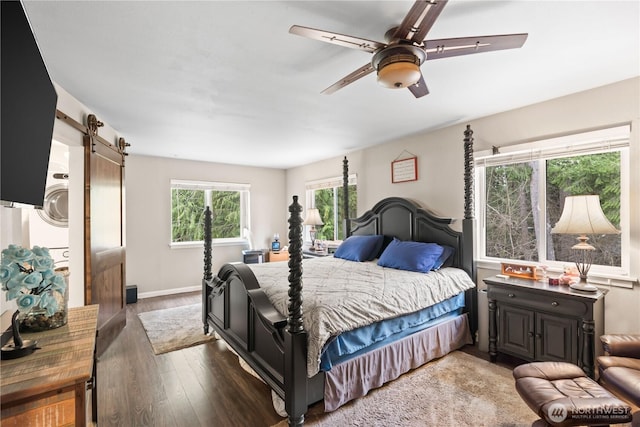
<svg viewBox="0 0 640 427">
<path fill-rule="evenodd" d="M 529 33 L 428 61 L 430 94 L 293 24 L 384 41 L 413 1 L 23 1 L 52 79 L 130 153 L 288 168 L 640 75 L 640 2 L 451 0 L 427 39 Z M 640 94 L 639 94 L 640 96 Z"/>
</svg>

